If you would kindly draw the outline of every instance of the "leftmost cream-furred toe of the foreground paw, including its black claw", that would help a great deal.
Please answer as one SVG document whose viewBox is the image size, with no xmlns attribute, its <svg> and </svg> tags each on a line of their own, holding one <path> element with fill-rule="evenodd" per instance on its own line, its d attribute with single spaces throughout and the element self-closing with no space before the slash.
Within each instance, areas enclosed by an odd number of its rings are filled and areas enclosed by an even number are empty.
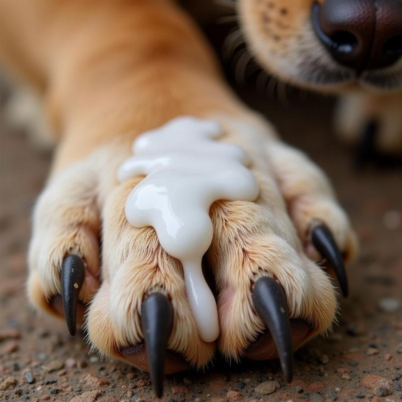
<svg viewBox="0 0 402 402">
<path fill-rule="evenodd" d="M 28 296 L 41 310 L 65 314 L 71 335 L 76 321 L 82 324 L 85 305 L 99 286 L 95 176 L 83 161 L 51 178 L 33 217 Z"/>
</svg>

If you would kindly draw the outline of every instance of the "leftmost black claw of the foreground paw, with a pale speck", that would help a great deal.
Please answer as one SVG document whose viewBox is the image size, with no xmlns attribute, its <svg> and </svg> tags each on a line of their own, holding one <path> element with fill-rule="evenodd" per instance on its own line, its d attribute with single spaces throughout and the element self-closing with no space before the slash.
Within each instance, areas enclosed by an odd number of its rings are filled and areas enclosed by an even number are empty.
<svg viewBox="0 0 402 402">
<path fill-rule="evenodd" d="M 85 266 L 82 259 L 73 254 L 64 258 L 61 269 L 61 298 L 64 318 L 71 336 L 75 335 L 77 329 L 77 300 L 84 278 Z"/>
</svg>

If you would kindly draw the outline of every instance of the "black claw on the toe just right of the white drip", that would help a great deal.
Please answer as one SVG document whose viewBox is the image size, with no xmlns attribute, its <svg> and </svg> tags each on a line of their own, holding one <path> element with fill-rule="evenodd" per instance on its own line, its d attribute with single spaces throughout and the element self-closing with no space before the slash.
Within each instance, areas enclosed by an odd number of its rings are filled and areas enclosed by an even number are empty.
<svg viewBox="0 0 402 402">
<path fill-rule="evenodd" d="M 285 292 L 273 278 L 257 280 L 253 291 L 254 307 L 271 333 L 278 351 L 283 377 L 291 382 L 293 376 L 293 348 Z"/>
</svg>

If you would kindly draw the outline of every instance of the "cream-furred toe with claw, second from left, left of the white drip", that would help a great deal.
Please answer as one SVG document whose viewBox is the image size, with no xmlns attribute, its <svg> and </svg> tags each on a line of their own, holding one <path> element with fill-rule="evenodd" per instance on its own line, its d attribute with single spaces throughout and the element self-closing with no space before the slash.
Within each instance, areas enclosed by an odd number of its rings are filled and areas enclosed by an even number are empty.
<svg viewBox="0 0 402 402">
<path fill-rule="evenodd" d="M 127 221 L 126 199 L 140 180 L 116 185 L 106 199 L 102 285 L 89 308 L 87 333 L 100 353 L 151 371 L 159 389 L 163 372 L 205 366 L 215 345 L 198 335 L 180 262 L 162 249 L 153 228 Z"/>
</svg>

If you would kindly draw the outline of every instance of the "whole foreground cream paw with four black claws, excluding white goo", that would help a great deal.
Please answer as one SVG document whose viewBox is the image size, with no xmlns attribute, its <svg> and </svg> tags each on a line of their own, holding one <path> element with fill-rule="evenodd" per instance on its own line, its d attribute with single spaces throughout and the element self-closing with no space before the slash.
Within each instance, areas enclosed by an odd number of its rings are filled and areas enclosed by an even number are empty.
<svg viewBox="0 0 402 402">
<path fill-rule="evenodd" d="M 131 144 L 107 144 L 53 175 L 35 208 L 32 303 L 64 315 L 72 334 L 76 311 L 92 348 L 150 371 L 158 396 L 163 373 L 203 367 L 216 348 L 228 359 L 279 356 L 290 380 L 292 351 L 334 321 L 331 275 L 347 293 L 343 261 L 356 245 L 325 175 L 276 140 L 259 147 L 247 125 L 223 127 L 223 141 L 248 153 L 260 191 L 255 202 L 220 200 L 210 209 L 203 268 L 217 300 L 216 342 L 198 334 L 180 262 L 152 227 L 127 221 L 126 200 L 143 178 L 117 181 Z M 327 268 L 314 262 L 323 259 Z"/>
</svg>

